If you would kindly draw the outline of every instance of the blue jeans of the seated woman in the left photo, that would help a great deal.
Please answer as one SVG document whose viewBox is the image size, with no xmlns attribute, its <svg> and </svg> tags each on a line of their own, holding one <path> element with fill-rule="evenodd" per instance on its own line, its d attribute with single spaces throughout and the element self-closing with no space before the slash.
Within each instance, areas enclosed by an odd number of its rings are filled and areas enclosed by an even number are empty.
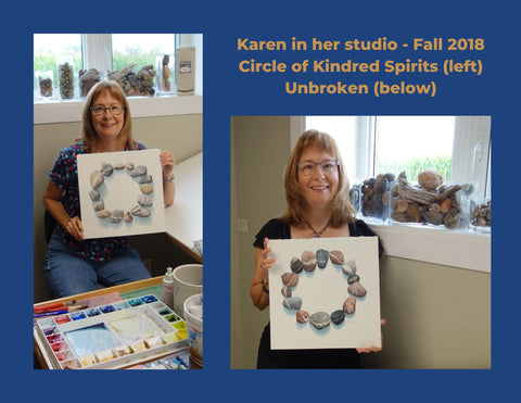
<svg viewBox="0 0 521 403">
<path fill-rule="evenodd" d="M 119 253 L 110 262 L 93 262 L 76 255 L 58 231 L 49 241 L 43 274 L 54 298 L 96 290 L 98 282 L 112 287 L 151 277 L 135 249 Z"/>
</svg>

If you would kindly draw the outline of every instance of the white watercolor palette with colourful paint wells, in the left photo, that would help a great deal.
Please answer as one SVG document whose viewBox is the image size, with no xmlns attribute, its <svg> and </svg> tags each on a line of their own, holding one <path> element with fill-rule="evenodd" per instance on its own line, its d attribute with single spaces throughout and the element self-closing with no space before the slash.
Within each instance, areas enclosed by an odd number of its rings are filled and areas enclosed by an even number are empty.
<svg viewBox="0 0 521 403">
<path fill-rule="evenodd" d="M 36 336 L 55 369 L 124 368 L 188 347 L 185 320 L 155 295 L 38 319 Z"/>
</svg>

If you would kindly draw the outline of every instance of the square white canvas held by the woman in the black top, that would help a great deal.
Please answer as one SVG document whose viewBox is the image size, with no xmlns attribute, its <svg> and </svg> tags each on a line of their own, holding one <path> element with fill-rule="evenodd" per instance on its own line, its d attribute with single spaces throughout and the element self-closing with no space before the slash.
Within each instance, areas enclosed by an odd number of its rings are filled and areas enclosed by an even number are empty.
<svg viewBox="0 0 521 403">
<path fill-rule="evenodd" d="M 277 260 L 269 269 L 271 349 L 381 347 L 377 237 L 268 240 L 268 248 Z"/>
</svg>

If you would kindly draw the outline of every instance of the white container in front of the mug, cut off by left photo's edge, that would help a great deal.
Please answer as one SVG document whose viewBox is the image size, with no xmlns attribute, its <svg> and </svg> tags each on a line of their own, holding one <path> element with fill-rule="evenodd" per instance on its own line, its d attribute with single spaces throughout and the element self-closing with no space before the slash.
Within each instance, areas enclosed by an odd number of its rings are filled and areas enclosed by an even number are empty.
<svg viewBox="0 0 521 403">
<path fill-rule="evenodd" d="M 195 294 L 185 301 L 190 360 L 203 366 L 203 294 Z"/>
</svg>

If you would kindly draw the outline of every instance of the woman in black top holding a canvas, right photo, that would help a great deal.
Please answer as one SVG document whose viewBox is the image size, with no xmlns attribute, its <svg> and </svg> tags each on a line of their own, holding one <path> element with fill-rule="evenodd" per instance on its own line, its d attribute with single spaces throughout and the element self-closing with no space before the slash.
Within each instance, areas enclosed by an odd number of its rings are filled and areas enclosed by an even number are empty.
<svg viewBox="0 0 521 403">
<path fill-rule="evenodd" d="M 269 221 L 257 234 L 255 270 L 250 293 L 253 304 L 269 304 L 268 239 L 315 237 L 374 237 L 363 221 L 355 218 L 348 197 L 350 185 L 333 138 L 325 133 L 304 133 L 290 155 L 284 176 L 287 213 Z M 379 253 L 383 248 L 379 241 Z M 382 320 L 382 324 L 384 320 Z M 358 368 L 360 352 L 379 349 L 271 350 L 269 324 L 260 338 L 257 368 Z"/>
</svg>

